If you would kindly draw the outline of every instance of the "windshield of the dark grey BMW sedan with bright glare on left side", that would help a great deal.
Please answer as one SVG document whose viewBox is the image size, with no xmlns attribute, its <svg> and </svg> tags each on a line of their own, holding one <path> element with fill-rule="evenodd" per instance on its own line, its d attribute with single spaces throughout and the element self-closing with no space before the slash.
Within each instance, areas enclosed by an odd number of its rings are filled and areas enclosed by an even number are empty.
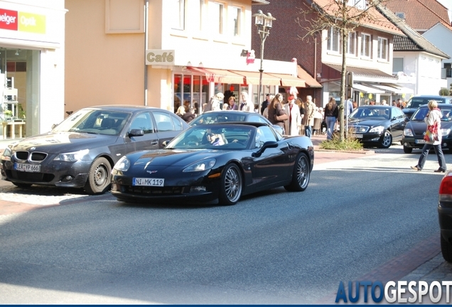
<svg viewBox="0 0 452 307">
<path fill-rule="evenodd" d="M 126 112 L 80 109 L 58 124 L 53 132 L 85 132 L 118 135 L 130 116 Z"/>
</svg>

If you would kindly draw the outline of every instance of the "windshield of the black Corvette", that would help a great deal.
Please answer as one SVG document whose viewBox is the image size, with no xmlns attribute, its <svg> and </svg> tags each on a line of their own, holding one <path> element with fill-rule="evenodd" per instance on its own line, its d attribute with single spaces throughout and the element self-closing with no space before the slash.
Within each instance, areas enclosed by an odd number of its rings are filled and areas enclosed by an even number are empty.
<svg viewBox="0 0 452 307">
<path fill-rule="evenodd" d="M 196 125 L 174 138 L 168 149 L 247 149 L 254 126 Z"/>
</svg>

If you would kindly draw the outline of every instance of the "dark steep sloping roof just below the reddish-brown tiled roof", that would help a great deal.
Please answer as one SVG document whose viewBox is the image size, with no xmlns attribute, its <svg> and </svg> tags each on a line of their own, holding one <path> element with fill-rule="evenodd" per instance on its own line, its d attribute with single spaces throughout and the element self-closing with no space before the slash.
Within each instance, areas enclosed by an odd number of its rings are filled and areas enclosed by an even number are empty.
<svg viewBox="0 0 452 307">
<path fill-rule="evenodd" d="M 451 58 L 443 51 L 435 47 L 434 44 L 421 36 L 418 32 L 414 31 L 413 28 L 408 26 L 401 18 L 397 17 L 392 11 L 387 9 L 386 6 L 377 6 L 378 11 L 383 14 L 389 21 L 394 23 L 400 30 L 407 36 L 406 38 L 400 38 L 394 36 L 394 51 L 424 51 L 426 53 L 431 53 L 433 55 L 438 55 L 441 58 Z"/>
</svg>

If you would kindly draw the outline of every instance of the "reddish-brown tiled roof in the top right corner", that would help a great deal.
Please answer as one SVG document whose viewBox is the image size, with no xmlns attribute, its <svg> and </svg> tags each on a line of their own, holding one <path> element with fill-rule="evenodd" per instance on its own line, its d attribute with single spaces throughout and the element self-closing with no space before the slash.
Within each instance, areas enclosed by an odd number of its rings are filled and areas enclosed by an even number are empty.
<svg viewBox="0 0 452 307">
<path fill-rule="evenodd" d="M 436 0 L 389 0 L 387 9 L 394 14 L 402 14 L 403 20 L 414 30 L 424 32 L 441 22 L 451 27 L 447 8 Z"/>
</svg>

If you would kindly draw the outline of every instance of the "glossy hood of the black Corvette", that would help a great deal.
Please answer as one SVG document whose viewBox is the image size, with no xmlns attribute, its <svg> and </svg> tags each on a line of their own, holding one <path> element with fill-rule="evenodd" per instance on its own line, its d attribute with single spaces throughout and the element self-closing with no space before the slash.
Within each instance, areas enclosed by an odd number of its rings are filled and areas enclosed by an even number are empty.
<svg viewBox="0 0 452 307">
<path fill-rule="evenodd" d="M 225 151 L 217 150 L 183 150 L 183 149 L 159 149 L 155 151 L 139 151 L 128 154 L 127 158 L 133 165 L 151 166 L 188 166 L 205 158 L 215 158 L 225 154 Z"/>
</svg>

